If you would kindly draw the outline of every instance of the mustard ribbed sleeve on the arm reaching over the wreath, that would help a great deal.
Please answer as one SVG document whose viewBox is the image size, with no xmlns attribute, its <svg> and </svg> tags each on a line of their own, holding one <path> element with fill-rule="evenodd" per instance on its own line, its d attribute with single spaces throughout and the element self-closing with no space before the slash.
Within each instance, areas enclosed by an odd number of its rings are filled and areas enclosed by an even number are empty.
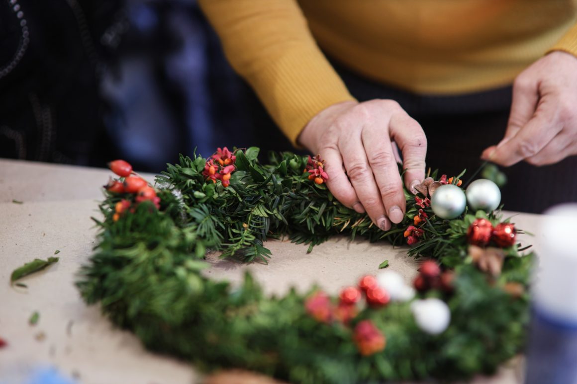
<svg viewBox="0 0 577 384">
<path fill-rule="evenodd" d="M 354 100 L 314 42 L 295 0 L 200 0 L 235 71 L 296 145 L 306 123 Z"/>
</svg>

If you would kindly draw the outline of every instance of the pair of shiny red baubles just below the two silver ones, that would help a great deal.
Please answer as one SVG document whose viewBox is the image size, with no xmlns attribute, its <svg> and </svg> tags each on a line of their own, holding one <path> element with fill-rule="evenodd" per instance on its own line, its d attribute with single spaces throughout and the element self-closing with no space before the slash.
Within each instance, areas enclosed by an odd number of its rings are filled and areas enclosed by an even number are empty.
<svg viewBox="0 0 577 384">
<path fill-rule="evenodd" d="M 477 219 L 467 229 L 467 241 L 478 247 L 486 247 L 493 241 L 501 248 L 515 244 L 517 230 L 511 223 L 500 223 L 496 227 L 487 219 Z"/>
</svg>

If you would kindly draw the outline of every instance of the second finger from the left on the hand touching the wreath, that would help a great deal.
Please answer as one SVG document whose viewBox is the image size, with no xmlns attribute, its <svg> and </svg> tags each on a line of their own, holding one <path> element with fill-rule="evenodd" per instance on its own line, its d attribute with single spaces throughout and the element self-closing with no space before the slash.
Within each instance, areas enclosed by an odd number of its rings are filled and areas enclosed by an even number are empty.
<svg viewBox="0 0 577 384">
<path fill-rule="evenodd" d="M 391 148 L 391 144 L 388 148 Z M 391 228 L 391 222 L 385 214 L 385 207 L 374 182 L 373 172 L 369 167 L 360 134 L 343 137 L 339 141 L 339 149 L 343 157 L 344 168 L 366 213 L 379 228 L 387 231 Z"/>
</svg>

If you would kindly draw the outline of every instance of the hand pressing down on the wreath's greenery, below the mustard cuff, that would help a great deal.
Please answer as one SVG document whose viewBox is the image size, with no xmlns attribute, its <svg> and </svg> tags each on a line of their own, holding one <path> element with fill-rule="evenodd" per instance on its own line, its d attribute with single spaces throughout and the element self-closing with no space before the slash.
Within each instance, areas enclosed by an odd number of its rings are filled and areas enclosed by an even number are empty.
<svg viewBox="0 0 577 384">
<path fill-rule="evenodd" d="M 359 213 L 366 210 L 384 231 L 391 221 L 400 223 L 406 209 L 392 141 L 403 154 L 407 188 L 414 191 L 425 178 L 425 133 L 393 100 L 334 104 L 311 119 L 298 141 L 325 160 L 331 193 Z"/>
</svg>

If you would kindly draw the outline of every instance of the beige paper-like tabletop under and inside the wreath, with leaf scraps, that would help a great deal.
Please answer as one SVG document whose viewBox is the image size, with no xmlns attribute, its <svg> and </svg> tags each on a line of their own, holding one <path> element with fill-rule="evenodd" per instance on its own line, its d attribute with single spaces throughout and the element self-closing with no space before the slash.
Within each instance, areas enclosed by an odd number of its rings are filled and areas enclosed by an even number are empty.
<svg viewBox="0 0 577 384">
<path fill-rule="evenodd" d="M 24 382 L 38 367 L 55 367 L 81 383 L 200 381 L 188 363 L 148 352 L 132 333 L 115 328 L 98 306 L 84 304 L 74 287 L 75 275 L 95 245 L 90 217 L 99 216 L 97 205 L 109 176 L 102 169 L 0 159 L 0 337 L 8 342 L 0 349 L 0 383 Z M 152 181 L 152 175 L 147 179 Z M 539 233 L 539 215 L 520 213 L 512 221 Z M 538 235 L 520 240 L 538 251 Z M 239 265 L 211 255 L 207 273 L 238 283 L 249 269 L 269 293 L 291 286 L 305 290 L 313 283 L 336 293 L 359 276 L 377 273 L 385 259 L 407 281 L 417 273 L 406 249 L 387 243 L 334 238 L 310 254 L 305 246 L 287 241 L 269 241 L 267 247 L 272 251 L 268 265 Z M 28 288 L 10 285 L 12 270 L 56 250 L 58 263 L 21 280 Z M 40 319 L 32 326 L 28 319 L 35 311 Z M 496 376 L 474 382 L 517 383 L 520 371 L 516 359 Z"/>
</svg>

